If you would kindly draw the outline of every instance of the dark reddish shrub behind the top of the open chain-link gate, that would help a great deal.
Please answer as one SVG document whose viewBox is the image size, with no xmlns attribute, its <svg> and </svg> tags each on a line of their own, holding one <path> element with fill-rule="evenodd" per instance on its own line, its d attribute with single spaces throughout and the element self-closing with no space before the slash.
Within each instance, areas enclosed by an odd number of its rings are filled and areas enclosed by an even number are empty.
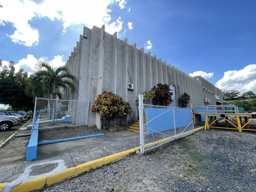
<svg viewBox="0 0 256 192">
<path fill-rule="evenodd" d="M 170 92 L 170 87 L 168 84 L 158 83 L 157 87 L 154 86 L 152 88 L 152 91 L 155 92 L 155 97 L 153 98 L 155 104 L 167 106 L 173 102 L 173 93 Z"/>
</svg>

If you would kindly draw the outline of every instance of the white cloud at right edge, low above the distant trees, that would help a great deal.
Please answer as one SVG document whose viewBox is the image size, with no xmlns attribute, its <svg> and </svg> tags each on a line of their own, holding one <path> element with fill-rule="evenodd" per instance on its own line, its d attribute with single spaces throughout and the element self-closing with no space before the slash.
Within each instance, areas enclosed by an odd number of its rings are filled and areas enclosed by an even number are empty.
<svg viewBox="0 0 256 192">
<path fill-rule="evenodd" d="M 241 93 L 256 93 L 256 64 L 248 65 L 239 71 L 227 71 L 216 86 L 222 91 L 238 90 Z"/>
</svg>

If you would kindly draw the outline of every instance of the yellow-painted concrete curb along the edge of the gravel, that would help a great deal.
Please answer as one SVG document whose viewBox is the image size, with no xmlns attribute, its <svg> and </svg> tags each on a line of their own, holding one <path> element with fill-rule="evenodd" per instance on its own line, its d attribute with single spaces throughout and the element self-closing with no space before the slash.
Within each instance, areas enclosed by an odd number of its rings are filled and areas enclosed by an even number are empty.
<svg viewBox="0 0 256 192">
<path fill-rule="evenodd" d="M 199 127 L 195 129 L 194 131 L 200 131 L 203 130 L 204 126 Z M 163 140 L 162 143 L 166 142 L 166 140 Z M 149 143 L 150 144 L 150 143 Z M 158 142 L 159 144 L 159 142 Z M 47 185 L 52 185 L 54 183 L 57 183 L 59 181 L 77 176 L 79 174 L 82 174 L 84 172 L 87 172 L 88 170 L 99 168 L 105 164 L 109 164 L 111 162 L 114 162 L 116 160 L 119 160 L 123 157 L 126 157 L 130 154 L 136 153 L 136 151 L 140 150 L 140 146 L 132 148 L 131 150 L 126 150 L 123 152 L 119 152 L 113 155 L 105 156 L 100 159 L 96 159 L 93 161 L 89 161 L 87 163 L 83 163 L 74 167 L 67 168 L 66 170 L 63 170 L 60 173 L 56 174 L 50 174 L 45 175 L 37 178 L 33 178 L 27 182 L 18 181 L 15 186 L 10 190 L 12 192 L 20 192 L 20 191 L 32 191 L 36 189 L 44 188 Z M 8 185 L 9 183 L 0 183 L 0 192 L 4 192 L 4 187 Z"/>
</svg>

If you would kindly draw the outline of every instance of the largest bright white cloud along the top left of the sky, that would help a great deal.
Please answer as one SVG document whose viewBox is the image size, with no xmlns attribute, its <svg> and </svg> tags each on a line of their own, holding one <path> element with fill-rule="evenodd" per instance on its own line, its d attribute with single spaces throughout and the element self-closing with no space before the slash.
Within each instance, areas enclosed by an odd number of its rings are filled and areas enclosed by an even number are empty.
<svg viewBox="0 0 256 192">
<path fill-rule="evenodd" d="M 63 22 L 63 32 L 72 24 L 83 24 L 89 28 L 94 25 L 101 27 L 105 25 L 105 30 L 111 34 L 122 29 L 121 17 L 111 22 L 111 12 L 107 7 L 113 3 L 119 3 L 123 9 L 126 0 L 45 0 L 45 1 L 19 1 L 8 0 L 1 2 L 0 25 L 12 23 L 16 28 L 13 34 L 8 34 L 13 42 L 25 46 L 32 46 L 38 43 L 38 30 L 29 25 L 29 21 L 34 17 L 49 17 L 51 20 L 59 19 Z M 15 13 L 15 14 L 13 14 Z"/>
</svg>

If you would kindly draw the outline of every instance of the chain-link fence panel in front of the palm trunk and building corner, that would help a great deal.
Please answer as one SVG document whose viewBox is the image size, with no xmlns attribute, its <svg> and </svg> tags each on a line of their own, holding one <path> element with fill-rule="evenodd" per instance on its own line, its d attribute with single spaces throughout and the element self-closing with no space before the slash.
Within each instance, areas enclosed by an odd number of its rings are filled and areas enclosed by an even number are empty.
<svg viewBox="0 0 256 192">
<path fill-rule="evenodd" d="M 32 129 L 87 125 L 88 114 L 89 101 L 36 98 Z"/>
</svg>

